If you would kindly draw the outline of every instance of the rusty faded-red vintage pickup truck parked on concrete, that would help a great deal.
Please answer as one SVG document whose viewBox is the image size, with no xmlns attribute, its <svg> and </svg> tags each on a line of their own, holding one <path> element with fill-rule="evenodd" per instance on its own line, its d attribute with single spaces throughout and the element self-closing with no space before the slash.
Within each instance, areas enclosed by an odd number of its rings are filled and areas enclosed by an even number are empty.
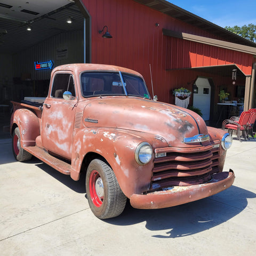
<svg viewBox="0 0 256 256">
<path fill-rule="evenodd" d="M 72 179 L 85 177 L 100 219 L 193 202 L 230 187 L 222 172 L 231 136 L 191 110 L 152 100 L 130 69 L 70 64 L 52 70 L 42 106 L 13 102 L 13 155 L 33 155 Z M 81 175 L 85 172 L 85 175 Z"/>
</svg>

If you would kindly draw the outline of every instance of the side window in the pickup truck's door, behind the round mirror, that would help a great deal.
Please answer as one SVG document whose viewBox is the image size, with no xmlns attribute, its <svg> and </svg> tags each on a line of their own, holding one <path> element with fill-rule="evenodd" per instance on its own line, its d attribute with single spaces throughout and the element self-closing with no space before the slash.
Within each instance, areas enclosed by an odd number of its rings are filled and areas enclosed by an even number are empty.
<svg viewBox="0 0 256 256">
<path fill-rule="evenodd" d="M 71 92 L 74 97 L 76 96 L 73 76 L 71 74 L 55 75 L 51 97 L 63 99 L 63 92 L 65 91 Z"/>
</svg>

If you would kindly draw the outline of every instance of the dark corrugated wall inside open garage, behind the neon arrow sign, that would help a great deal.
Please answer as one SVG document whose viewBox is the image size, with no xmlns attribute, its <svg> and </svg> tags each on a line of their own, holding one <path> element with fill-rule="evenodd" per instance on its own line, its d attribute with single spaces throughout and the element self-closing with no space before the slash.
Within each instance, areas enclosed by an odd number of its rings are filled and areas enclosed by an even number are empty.
<svg viewBox="0 0 256 256">
<path fill-rule="evenodd" d="M 64 59 L 57 57 L 57 49 L 68 50 Z M 83 62 L 83 58 L 83 31 L 75 30 L 62 33 L 25 51 L 14 54 L 14 77 L 30 77 L 31 80 L 50 79 L 51 70 L 35 70 L 35 61 L 52 60 L 54 68 L 62 64 Z"/>
</svg>

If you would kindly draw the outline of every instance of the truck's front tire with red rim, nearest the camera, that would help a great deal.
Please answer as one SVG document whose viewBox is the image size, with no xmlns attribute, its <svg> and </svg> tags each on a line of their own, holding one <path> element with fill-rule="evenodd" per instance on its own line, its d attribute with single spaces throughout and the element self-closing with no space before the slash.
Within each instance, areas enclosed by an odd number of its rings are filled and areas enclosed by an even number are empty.
<svg viewBox="0 0 256 256">
<path fill-rule="evenodd" d="M 93 159 L 89 164 L 85 186 L 91 211 L 96 217 L 108 219 L 123 212 L 126 196 L 113 170 L 101 159 Z"/>
</svg>

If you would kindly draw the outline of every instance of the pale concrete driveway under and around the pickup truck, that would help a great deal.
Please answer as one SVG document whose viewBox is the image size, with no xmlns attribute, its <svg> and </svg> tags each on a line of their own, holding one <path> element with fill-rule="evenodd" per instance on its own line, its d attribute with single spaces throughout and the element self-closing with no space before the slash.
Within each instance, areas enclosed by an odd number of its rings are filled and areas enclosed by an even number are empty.
<svg viewBox="0 0 256 256">
<path fill-rule="evenodd" d="M 236 179 L 222 193 L 161 210 L 127 205 L 104 221 L 92 214 L 83 179 L 36 158 L 16 162 L 11 140 L 0 140 L 0 151 L 2 256 L 256 253 L 256 140 L 233 141 L 225 170 Z"/>
</svg>

